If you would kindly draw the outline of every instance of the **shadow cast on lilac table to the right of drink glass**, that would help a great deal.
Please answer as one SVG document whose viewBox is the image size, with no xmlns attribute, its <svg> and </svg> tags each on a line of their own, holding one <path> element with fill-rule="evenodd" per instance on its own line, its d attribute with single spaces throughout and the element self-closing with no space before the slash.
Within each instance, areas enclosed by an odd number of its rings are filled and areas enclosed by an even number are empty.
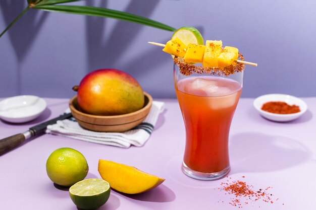
<svg viewBox="0 0 316 210">
<path fill-rule="evenodd" d="M 311 152 L 299 140 L 246 132 L 230 139 L 231 173 L 269 172 L 302 164 Z"/>
</svg>

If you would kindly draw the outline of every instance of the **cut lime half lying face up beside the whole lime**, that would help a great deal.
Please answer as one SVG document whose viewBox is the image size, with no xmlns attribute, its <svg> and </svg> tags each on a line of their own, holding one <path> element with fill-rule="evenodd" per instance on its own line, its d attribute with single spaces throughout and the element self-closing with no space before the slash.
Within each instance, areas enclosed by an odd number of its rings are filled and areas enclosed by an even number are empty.
<svg viewBox="0 0 316 210">
<path fill-rule="evenodd" d="M 110 184 L 103 179 L 84 179 L 69 188 L 72 201 L 81 209 L 94 209 L 110 197 Z"/>
</svg>

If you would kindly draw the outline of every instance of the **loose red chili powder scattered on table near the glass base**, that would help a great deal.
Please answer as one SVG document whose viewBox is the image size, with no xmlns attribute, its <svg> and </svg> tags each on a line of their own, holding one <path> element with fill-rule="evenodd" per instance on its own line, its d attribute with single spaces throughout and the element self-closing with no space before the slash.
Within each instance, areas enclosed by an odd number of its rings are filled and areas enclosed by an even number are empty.
<svg viewBox="0 0 316 210">
<path fill-rule="evenodd" d="M 266 188 L 256 189 L 247 184 L 245 181 L 235 180 L 231 181 L 231 177 L 227 177 L 226 182 L 221 183 L 221 191 L 225 191 L 225 195 L 233 195 L 229 204 L 236 206 L 238 208 L 242 208 L 246 204 L 254 204 L 256 201 L 263 201 L 268 203 L 274 203 L 274 201 L 279 200 L 273 199 L 274 195 L 269 193 L 269 189 L 272 187 L 268 186 Z M 245 178 L 245 176 L 242 176 Z M 219 201 L 220 202 L 220 201 Z M 222 201 L 224 203 L 224 201 Z M 284 205 L 284 204 L 283 204 Z M 259 206 L 260 207 L 260 206 Z"/>
</svg>

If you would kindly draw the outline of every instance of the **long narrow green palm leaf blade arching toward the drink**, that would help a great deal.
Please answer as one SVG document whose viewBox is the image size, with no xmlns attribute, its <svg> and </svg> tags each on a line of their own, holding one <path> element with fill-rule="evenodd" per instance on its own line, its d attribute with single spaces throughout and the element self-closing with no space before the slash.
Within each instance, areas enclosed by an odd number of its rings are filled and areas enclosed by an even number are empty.
<svg viewBox="0 0 316 210">
<path fill-rule="evenodd" d="M 49 1 L 49 0 L 48 0 Z M 54 1 L 54 0 L 51 0 Z M 58 0 L 55 0 L 58 1 Z M 87 6 L 66 6 L 66 5 L 41 5 L 35 6 L 33 9 L 39 9 L 49 12 L 69 13 L 77 15 L 98 16 L 103 18 L 114 18 L 123 21 L 129 21 L 137 24 L 151 26 L 154 28 L 164 29 L 167 31 L 175 31 L 176 29 L 163 23 L 143 18 L 126 12 L 110 10 L 106 8 L 87 7 Z"/>
</svg>

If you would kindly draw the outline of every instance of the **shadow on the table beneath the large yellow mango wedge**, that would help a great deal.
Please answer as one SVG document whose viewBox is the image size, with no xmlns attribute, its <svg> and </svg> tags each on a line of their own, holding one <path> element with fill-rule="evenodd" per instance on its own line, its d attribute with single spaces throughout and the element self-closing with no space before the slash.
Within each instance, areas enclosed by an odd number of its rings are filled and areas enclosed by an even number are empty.
<svg viewBox="0 0 316 210">
<path fill-rule="evenodd" d="M 171 202 L 176 199 L 175 193 L 164 184 L 140 194 L 126 194 L 117 190 L 114 191 L 131 199 L 147 202 Z"/>
</svg>

